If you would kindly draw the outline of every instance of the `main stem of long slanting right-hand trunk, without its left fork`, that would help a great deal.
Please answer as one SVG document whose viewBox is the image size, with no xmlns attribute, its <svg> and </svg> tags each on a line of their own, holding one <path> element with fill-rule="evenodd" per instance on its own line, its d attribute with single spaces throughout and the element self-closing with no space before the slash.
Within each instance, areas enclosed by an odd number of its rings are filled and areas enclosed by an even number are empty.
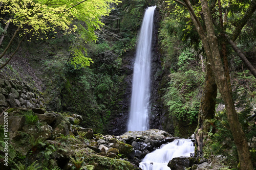
<svg viewBox="0 0 256 170">
<path fill-rule="evenodd" d="M 251 162 L 248 143 L 247 143 L 245 134 L 242 130 L 242 126 L 239 123 L 238 115 L 237 115 L 236 109 L 234 108 L 232 96 L 229 92 L 228 83 L 225 77 L 225 72 L 224 72 L 221 58 L 220 58 L 218 41 L 217 41 L 217 37 L 215 36 L 214 26 L 211 20 L 211 15 L 210 15 L 207 1 L 201 0 L 201 6 L 202 6 L 204 18 L 205 18 L 208 45 L 210 46 L 210 51 L 212 53 L 212 60 L 210 60 L 210 63 L 211 65 L 215 65 L 215 69 L 214 69 L 215 79 L 225 104 L 228 123 L 230 126 L 230 130 L 231 130 L 234 142 L 236 143 L 236 146 L 237 146 L 241 169 L 252 170 L 253 166 Z"/>
</svg>

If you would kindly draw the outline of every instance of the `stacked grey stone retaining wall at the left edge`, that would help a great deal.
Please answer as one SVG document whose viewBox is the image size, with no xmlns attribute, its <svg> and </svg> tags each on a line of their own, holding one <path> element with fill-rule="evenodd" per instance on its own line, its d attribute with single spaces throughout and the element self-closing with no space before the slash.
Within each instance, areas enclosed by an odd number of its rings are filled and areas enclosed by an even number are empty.
<svg viewBox="0 0 256 170">
<path fill-rule="evenodd" d="M 24 82 L 0 79 L 0 113 L 6 108 L 43 108 L 42 93 Z"/>
</svg>

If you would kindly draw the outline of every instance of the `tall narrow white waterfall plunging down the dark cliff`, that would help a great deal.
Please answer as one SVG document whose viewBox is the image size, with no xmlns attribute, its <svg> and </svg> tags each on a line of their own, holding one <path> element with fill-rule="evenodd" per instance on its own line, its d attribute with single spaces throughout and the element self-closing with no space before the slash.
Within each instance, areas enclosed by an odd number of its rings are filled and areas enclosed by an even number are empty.
<svg viewBox="0 0 256 170">
<path fill-rule="evenodd" d="M 148 129 L 148 110 L 150 110 L 151 45 L 153 16 L 156 6 L 145 11 L 139 34 L 133 72 L 133 87 L 128 131 Z"/>
</svg>

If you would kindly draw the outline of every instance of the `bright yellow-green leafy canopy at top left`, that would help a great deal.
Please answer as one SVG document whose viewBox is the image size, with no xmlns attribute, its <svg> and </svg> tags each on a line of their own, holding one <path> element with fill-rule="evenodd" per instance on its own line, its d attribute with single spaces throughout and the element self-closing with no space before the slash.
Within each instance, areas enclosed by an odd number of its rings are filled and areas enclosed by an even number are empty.
<svg viewBox="0 0 256 170">
<path fill-rule="evenodd" d="M 102 16 L 108 16 L 118 0 L 0 0 L 1 13 L 12 16 L 10 22 L 18 29 L 19 36 L 27 33 L 46 36 L 48 32 L 71 34 L 78 32 L 83 42 L 96 41 L 95 31 L 104 24 Z M 8 18 L 0 18 L 8 22 Z M 53 36 L 54 38 L 54 36 Z M 41 38 L 43 39 L 43 38 Z M 73 45 L 70 49 L 73 56 L 71 64 L 75 67 L 86 67 L 92 60 L 87 58 L 83 47 Z M 83 52 L 83 53 L 82 53 Z"/>
</svg>

